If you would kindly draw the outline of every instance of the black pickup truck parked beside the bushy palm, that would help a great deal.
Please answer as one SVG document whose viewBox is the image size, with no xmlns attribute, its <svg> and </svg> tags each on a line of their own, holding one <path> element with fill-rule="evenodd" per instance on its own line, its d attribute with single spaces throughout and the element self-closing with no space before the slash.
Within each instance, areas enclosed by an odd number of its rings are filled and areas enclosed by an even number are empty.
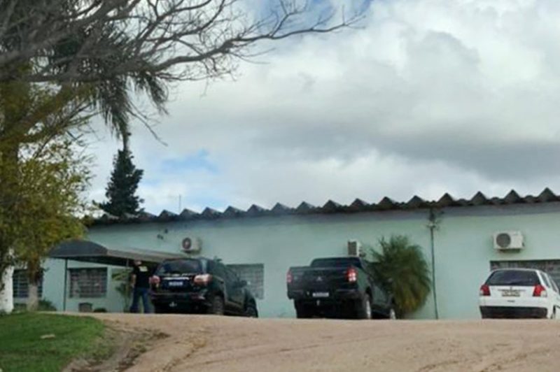
<svg viewBox="0 0 560 372">
<path fill-rule="evenodd" d="M 311 266 L 290 267 L 286 281 L 299 318 L 395 318 L 392 296 L 359 257 L 314 259 Z"/>
</svg>

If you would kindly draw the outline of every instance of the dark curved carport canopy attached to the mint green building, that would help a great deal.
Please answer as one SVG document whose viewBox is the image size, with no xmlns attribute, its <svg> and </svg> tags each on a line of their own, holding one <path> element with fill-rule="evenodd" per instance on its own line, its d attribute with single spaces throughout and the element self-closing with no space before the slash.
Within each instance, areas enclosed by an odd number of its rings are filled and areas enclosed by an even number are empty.
<svg viewBox="0 0 560 372">
<path fill-rule="evenodd" d="M 92 241 L 72 240 L 60 243 L 49 255 L 55 259 L 71 259 L 80 262 L 94 262 L 113 266 L 131 266 L 139 259 L 146 264 L 158 264 L 165 259 L 185 258 L 181 253 L 158 252 L 137 248 L 107 248 Z"/>
</svg>

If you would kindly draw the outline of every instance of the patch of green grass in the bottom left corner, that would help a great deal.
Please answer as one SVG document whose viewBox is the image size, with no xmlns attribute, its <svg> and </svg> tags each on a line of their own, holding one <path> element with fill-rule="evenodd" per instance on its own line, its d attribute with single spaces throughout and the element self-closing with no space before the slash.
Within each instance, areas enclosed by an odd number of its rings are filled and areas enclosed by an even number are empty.
<svg viewBox="0 0 560 372">
<path fill-rule="evenodd" d="M 55 338 L 41 339 L 45 334 Z M 61 371 L 76 357 L 102 359 L 112 351 L 105 327 L 91 317 L 18 313 L 0 316 L 0 370 Z"/>
</svg>

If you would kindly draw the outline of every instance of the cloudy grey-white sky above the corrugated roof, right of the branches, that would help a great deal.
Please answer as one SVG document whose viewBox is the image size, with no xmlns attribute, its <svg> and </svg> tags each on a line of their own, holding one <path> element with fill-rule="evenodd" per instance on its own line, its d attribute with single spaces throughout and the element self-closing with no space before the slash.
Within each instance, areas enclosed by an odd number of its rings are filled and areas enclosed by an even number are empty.
<svg viewBox="0 0 560 372">
<path fill-rule="evenodd" d="M 340 5 L 349 1 L 335 1 Z M 159 213 L 444 192 L 560 192 L 560 2 L 375 0 L 359 29 L 307 36 L 183 83 L 135 124 L 139 194 Z M 92 199 L 118 143 L 104 131 Z"/>
</svg>

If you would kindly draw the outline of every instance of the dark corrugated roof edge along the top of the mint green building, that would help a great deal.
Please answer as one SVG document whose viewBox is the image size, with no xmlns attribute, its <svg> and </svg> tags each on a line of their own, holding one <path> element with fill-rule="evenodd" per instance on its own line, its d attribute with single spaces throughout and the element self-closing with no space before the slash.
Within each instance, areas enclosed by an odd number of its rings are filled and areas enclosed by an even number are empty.
<svg viewBox="0 0 560 372">
<path fill-rule="evenodd" d="M 214 208 L 205 208 L 202 213 L 193 210 L 184 209 L 179 215 L 169 210 L 162 210 L 159 215 L 151 213 L 140 213 L 139 215 L 125 215 L 118 218 L 114 215 L 104 214 L 94 220 L 94 224 L 116 224 L 126 222 L 168 222 L 183 220 L 216 220 L 218 218 L 228 217 L 259 217 L 263 215 L 309 215 L 309 214 L 325 214 L 325 213 L 360 213 L 369 211 L 379 211 L 382 213 L 386 210 L 419 210 L 426 208 L 469 208 L 473 206 L 496 206 L 496 205 L 512 205 L 512 204 L 531 204 L 531 203 L 551 203 L 560 201 L 560 196 L 554 194 L 548 187 L 542 190 L 538 196 L 526 195 L 520 196 L 515 190 L 508 192 L 503 198 L 486 197 L 482 192 L 477 192 L 472 198 L 455 199 L 451 194 L 445 193 L 437 201 L 422 199 L 414 195 L 409 201 L 400 203 L 385 196 L 378 203 L 367 203 L 362 199 L 356 199 L 351 204 L 344 206 L 333 200 L 328 200 L 322 207 L 313 206 L 306 201 L 302 201 L 296 208 L 276 203 L 272 209 L 263 208 L 253 204 L 248 210 L 241 210 L 233 206 L 229 206 L 223 212 Z"/>
</svg>

